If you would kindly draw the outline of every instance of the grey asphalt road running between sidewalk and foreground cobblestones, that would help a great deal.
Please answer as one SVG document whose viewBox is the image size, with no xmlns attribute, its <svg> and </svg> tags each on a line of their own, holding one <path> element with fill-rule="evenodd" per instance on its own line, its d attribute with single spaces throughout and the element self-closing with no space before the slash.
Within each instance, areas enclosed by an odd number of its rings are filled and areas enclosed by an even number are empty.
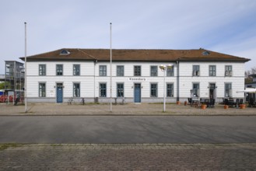
<svg viewBox="0 0 256 171">
<path fill-rule="evenodd" d="M 256 117 L 0 117 L 0 143 L 252 143 Z"/>
</svg>

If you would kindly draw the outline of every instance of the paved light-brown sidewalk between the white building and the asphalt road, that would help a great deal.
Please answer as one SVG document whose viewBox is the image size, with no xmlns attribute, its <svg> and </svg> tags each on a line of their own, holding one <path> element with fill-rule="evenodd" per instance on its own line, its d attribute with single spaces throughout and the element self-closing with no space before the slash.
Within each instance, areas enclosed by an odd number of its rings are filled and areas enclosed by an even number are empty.
<svg viewBox="0 0 256 171">
<path fill-rule="evenodd" d="M 85 115 L 85 116 L 256 116 L 256 108 L 246 107 L 244 110 L 239 108 L 229 108 L 225 110 L 223 105 L 216 104 L 214 108 L 202 110 L 192 106 L 184 106 L 184 104 L 167 104 L 166 112 L 163 113 L 163 104 L 150 103 L 127 103 L 124 105 L 112 106 L 110 112 L 110 104 L 86 104 L 86 105 L 68 105 L 67 103 L 29 103 L 27 105 L 27 113 L 25 106 L 13 106 L 12 104 L 0 104 L 0 116 L 48 116 L 48 115 Z"/>
</svg>

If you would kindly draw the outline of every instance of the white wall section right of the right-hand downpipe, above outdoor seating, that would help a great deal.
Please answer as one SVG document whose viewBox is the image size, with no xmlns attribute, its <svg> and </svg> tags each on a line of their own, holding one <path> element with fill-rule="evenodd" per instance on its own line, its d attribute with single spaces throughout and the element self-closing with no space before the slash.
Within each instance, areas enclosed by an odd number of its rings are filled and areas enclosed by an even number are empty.
<svg viewBox="0 0 256 171">
<path fill-rule="evenodd" d="M 192 76 L 193 65 L 200 65 L 200 76 Z M 209 76 L 209 65 L 216 65 L 216 76 Z M 225 66 L 232 65 L 233 76 L 225 76 Z M 216 95 L 218 98 L 224 97 L 225 83 L 232 83 L 233 97 L 244 97 L 243 93 L 237 93 L 238 90 L 244 89 L 244 63 L 237 62 L 182 62 L 180 64 L 180 96 L 190 96 L 192 83 L 199 82 L 200 96 L 209 97 L 209 83 L 216 83 L 218 87 Z"/>
</svg>

